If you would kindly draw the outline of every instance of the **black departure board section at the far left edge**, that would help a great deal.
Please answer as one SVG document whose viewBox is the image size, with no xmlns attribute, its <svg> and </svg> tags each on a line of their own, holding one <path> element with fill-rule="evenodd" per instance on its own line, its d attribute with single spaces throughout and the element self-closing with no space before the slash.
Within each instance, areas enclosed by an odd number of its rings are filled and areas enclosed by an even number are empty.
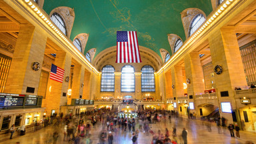
<svg viewBox="0 0 256 144">
<path fill-rule="evenodd" d="M 0 107 L 23 106 L 24 97 L 0 96 Z"/>
</svg>

